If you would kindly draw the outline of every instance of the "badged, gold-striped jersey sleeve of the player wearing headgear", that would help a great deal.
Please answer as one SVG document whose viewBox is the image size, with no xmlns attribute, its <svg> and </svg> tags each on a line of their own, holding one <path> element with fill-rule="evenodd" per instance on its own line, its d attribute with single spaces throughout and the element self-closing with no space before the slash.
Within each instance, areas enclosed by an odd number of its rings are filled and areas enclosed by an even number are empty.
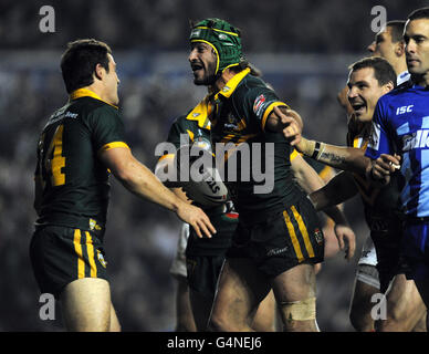
<svg viewBox="0 0 429 354">
<path fill-rule="evenodd" d="M 265 131 L 266 119 L 276 106 L 287 105 L 280 101 L 274 91 L 269 87 L 254 87 L 249 90 L 244 98 L 247 116 L 257 119 L 262 131 Z"/>
</svg>

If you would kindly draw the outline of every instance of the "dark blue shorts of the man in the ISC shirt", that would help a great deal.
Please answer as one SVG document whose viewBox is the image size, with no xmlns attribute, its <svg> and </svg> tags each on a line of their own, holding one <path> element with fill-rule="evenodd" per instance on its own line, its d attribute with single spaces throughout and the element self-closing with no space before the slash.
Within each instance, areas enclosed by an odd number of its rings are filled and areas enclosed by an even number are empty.
<svg viewBox="0 0 429 354">
<path fill-rule="evenodd" d="M 407 279 L 429 280 L 429 221 L 406 222 L 402 252 L 409 267 Z"/>
</svg>

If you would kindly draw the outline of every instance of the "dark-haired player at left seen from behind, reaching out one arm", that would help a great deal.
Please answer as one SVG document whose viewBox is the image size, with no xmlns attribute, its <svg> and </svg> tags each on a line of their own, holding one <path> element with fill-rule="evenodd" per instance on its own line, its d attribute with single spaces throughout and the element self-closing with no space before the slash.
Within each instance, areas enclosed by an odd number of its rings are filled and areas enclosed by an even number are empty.
<svg viewBox="0 0 429 354">
<path fill-rule="evenodd" d="M 132 155 L 111 48 L 92 39 L 69 43 L 61 70 L 70 100 L 40 135 L 32 268 L 41 292 L 61 301 L 69 331 L 119 331 L 103 250 L 109 174 L 175 211 L 199 237 L 216 230 L 200 208 L 184 202 Z"/>
</svg>

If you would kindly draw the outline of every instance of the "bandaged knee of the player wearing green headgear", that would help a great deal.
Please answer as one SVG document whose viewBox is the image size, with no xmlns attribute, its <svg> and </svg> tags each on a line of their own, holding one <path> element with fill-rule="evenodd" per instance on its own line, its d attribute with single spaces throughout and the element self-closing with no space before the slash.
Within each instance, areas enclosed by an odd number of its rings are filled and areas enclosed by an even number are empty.
<svg viewBox="0 0 429 354">
<path fill-rule="evenodd" d="M 280 309 L 285 331 L 317 331 L 316 298 L 281 302 Z"/>
</svg>

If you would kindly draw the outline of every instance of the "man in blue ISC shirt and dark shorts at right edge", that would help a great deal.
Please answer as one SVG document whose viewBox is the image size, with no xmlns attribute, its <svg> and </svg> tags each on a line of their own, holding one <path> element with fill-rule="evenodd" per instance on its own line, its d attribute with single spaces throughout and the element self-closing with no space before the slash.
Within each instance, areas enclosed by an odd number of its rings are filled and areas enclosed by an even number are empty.
<svg viewBox="0 0 429 354">
<path fill-rule="evenodd" d="M 409 266 L 407 279 L 414 279 L 429 304 L 428 218 L 429 160 L 427 117 L 429 116 L 429 8 L 410 13 L 404 40 L 411 80 L 383 96 L 373 119 L 373 135 L 366 156 L 373 159 L 368 176 L 383 184 L 400 173 L 404 238 L 401 252 Z"/>
</svg>

